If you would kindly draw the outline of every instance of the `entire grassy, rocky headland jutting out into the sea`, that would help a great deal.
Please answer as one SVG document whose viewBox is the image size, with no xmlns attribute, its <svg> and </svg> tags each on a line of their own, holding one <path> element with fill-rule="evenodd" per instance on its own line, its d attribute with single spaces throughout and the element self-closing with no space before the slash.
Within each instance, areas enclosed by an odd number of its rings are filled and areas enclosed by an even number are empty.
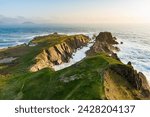
<svg viewBox="0 0 150 117">
<path fill-rule="evenodd" d="M 0 99 L 150 99 L 146 77 L 131 62 L 120 61 L 116 44 L 110 32 L 94 39 L 54 33 L 1 49 Z M 84 59 L 76 61 L 81 51 L 86 52 Z M 55 69 L 63 64 L 70 65 Z"/>
</svg>

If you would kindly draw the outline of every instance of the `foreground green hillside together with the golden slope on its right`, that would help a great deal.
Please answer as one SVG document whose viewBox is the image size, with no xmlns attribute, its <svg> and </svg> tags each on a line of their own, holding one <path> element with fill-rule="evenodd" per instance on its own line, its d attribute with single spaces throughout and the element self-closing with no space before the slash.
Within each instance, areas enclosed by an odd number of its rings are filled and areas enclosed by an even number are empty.
<svg viewBox="0 0 150 117">
<path fill-rule="evenodd" d="M 101 53 L 57 72 L 47 68 L 1 78 L 0 99 L 136 99 L 138 92 L 115 72 L 104 79 L 109 66 L 116 64 L 122 63 Z"/>
</svg>

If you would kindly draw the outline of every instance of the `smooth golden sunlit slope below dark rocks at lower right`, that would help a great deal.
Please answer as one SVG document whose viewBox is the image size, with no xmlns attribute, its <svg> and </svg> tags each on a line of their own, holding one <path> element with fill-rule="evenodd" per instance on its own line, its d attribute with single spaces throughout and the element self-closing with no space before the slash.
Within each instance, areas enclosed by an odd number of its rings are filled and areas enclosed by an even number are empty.
<svg viewBox="0 0 150 117">
<path fill-rule="evenodd" d="M 130 93 L 131 88 L 125 79 L 115 74 L 110 69 L 104 72 L 104 92 L 107 100 L 135 99 Z"/>
</svg>

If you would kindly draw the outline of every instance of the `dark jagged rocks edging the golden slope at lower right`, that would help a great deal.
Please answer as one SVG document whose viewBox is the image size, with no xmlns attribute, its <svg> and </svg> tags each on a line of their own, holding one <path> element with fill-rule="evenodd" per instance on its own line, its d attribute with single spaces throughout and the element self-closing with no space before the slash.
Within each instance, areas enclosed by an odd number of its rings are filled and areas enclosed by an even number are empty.
<svg viewBox="0 0 150 117">
<path fill-rule="evenodd" d="M 141 94 L 138 94 L 134 91 L 132 92 L 133 97 L 135 99 L 150 99 L 150 87 L 143 73 L 141 72 L 138 73 L 131 65 L 124 65 L 124 64 L 110 65 L 108 71 L 109 73 L 111 71 L 111 73 L 114 73 L 118 77 L 120 77 L 122 79 L 122 82 L 127 82 L 125 86 L 122 86 L 126 87 L 126 90 L 129 91 L 135 90 L 141 92 Z M 112 74 L 110 75 L 111 78 L 115 77 L 114 82 L 117 85 L 121 85 L 120 81 L 117 80 L 118 79 L 117 76 L 113 76 Z M 104 77 L 104 82 L 105 81 L 107 81 L 107 77 Z M 106 93 L 108 95 L 108 92 Z"/>
</svg>

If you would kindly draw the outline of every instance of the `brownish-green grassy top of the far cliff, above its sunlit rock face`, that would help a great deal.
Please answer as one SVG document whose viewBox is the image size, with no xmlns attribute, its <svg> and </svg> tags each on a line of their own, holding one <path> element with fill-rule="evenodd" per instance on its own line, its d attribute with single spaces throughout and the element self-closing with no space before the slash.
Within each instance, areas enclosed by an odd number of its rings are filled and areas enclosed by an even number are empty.
<svg viewBox="0 0 150 117">
<path fill-rule="evenodd" d="M 29 67 L 35 63 L 36 56 L 44 49 L 48 49 L 56 44 L 73 39 L 88 40 L 89 38 L 82 34 L 71 36 L 50 34 L 47 36 L 35 37 L 29 42 L 29 44 L 9 47 L 7 49 L 0 49 L 0 60 L 10 57 L 16 58 L 15 61 L 8 64 L 0 63 L 0 77 L 28 72 Z"/>
</svg>

